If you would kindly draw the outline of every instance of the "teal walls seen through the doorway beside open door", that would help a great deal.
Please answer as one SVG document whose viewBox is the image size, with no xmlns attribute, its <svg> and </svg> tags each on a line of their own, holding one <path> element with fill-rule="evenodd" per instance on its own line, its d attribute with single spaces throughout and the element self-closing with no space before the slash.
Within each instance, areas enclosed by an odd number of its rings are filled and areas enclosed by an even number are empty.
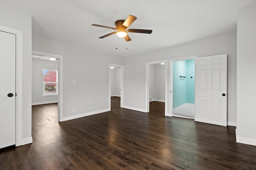
<svg viewBox="0 0 256 170">
<path fill-rule="evenodd" d="M 195 103 L 194 70 L 194 59 L 175 61 L 172 63 L 173 109 L 185 103 Z M 180 76 L 185 76 L 186 78 L 180 78 Z"/>
</svg>

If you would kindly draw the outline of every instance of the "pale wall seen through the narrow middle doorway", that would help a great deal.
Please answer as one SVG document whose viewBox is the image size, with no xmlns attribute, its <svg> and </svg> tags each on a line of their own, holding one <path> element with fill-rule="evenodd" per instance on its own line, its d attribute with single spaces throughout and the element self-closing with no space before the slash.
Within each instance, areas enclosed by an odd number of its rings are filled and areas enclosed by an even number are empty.
<svg viewBox="0 0 256 170">
<path fill-rule="evenodd" d="M 110 68 L 111 96 L 120 97 L 121 89 L 121 68 Z"/>
</svg>

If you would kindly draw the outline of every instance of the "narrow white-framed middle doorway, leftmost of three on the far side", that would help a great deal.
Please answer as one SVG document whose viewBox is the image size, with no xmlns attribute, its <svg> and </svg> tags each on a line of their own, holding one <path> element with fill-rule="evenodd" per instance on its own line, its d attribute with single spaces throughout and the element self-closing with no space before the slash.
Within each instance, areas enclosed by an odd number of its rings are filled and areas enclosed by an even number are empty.
<svg viewBox="0 0 256 170">
<path fill-rule="evenodd" d="M 109 64 L 109 110 L 112 107 L 123 107 L 124 66 Z M 113 106 L 111 106 L 111 103 Z"/>
</svg>

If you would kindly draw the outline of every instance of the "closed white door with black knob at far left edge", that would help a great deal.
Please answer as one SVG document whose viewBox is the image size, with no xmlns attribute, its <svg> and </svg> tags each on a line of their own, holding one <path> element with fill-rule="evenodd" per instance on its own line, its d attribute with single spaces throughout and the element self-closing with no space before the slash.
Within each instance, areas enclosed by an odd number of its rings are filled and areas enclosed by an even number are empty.
<svg viewBox="0 0 256 170">
<path fill-rule="evenodd" d="M 4 148 L 16 140 L 16 35 L 0 31 L 0 37 L 0 148 Z"/>
</svg>

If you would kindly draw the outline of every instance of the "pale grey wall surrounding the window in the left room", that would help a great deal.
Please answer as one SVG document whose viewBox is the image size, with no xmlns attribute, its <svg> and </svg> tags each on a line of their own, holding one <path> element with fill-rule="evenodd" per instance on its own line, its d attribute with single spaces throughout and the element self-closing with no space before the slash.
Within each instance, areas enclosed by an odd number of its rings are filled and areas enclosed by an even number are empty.
<svg viewBox="0 0 256 170">
<path fill-rule="evenodd" d="M 49 61 L 32 58 L 32 105 L 49 104 L 58 102 L 58 96 L 42 96 L 43 69 L 58 70 L 58 61 Z"/>
</svg>

